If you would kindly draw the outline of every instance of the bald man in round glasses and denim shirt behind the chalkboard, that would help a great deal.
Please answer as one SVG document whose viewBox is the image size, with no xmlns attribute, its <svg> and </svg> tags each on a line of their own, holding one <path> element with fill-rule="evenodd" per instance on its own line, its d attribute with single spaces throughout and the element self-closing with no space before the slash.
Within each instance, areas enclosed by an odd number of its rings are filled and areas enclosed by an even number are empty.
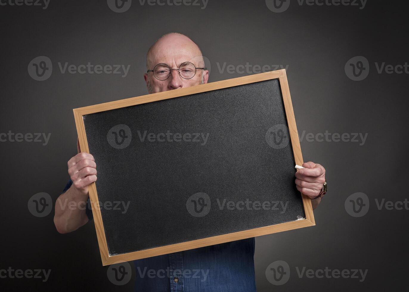
<svg viewBox="0 0 409 292">
<path fill-rule="evenodd" d="M 187 68 L 192 65 L 194 74 L 189 73 Z M 149 93 L 199 85 L 207 83 L 209 78 L 198 45 L 178 33 L 166 34 L 156 41 L 146 55 L 146 67 L 144 78 Z M 59 200 L 68 200 L 85 204 L 89 197 L 88 186 L 97 180 L 94 158 L 91 154 L 81 153 L 78 140 L 77 148 L 78 154 L 68 161 L 71 181 L 56 202 L 54 223 L 60 233 L 74 231 L 92 218 L 88 208 L 62 209 L 61 206 L 65 204 L 58 203 Z M 295 184 L 299 191 L 313 199 L 312 206 L 315 209 L 321 201 L 325 169 L 313 162 L 304 163 L 303 166 L 305 168 L 295 175 Z M 137 271 L 136 290 L 254 292 L 253 256 L 254 238 L 249 238 L 137 260 L 134 261 Z M 157 276 L 151 277 L 144 273 L 151 269 L 156 271 Z M 159 276 L 159 270 L 167 271 L 168 275 Z"/>
</svg>

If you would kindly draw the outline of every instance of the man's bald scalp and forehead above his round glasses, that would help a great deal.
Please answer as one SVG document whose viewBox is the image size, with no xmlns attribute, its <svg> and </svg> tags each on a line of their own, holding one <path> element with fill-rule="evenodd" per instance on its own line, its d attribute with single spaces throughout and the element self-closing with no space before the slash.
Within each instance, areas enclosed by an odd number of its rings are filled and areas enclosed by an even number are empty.
<svg viewBox="0 0 409 292">
<path fill-rule="evenodd" d="M 194 61 L 192 63 L 196 66 L 204 66 L 202 51 L 200 51 L 199 46 L 184 34 L 171 32 L 164 34 L 149 48 L 146 54 L 146 69 L 153 70 L 153 66 L 156 64 L 165 63 L 160 60 L 178 55 L 186 56 L 188 59 L 185 61 Z"/>
</svg>

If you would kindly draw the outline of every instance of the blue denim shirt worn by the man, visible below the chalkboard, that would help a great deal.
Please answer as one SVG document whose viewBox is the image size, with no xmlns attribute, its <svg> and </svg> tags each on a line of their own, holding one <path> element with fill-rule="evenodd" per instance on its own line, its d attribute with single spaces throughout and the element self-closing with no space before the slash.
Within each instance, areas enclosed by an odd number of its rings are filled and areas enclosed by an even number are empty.
<svg viewBox="0 0 409 292">
<path fill-rule="evenodd" d="M 85 211 L 92 220 L 89 199 Z M 254 245 L 248 238 L 136 260 L 135 291 L 256 292 Z"/>
</svg>

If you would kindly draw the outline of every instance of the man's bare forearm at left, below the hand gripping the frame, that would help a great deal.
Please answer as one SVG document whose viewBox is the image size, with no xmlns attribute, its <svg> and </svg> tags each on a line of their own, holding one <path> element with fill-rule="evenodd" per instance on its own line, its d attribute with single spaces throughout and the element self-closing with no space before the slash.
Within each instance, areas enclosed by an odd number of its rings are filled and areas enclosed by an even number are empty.
<svg viewBox="0 0 409 292">
<path fill-rule="evenodd" d="M 59 233 L 68 233 L 88 222 L 85 212 L 88 195 L 79 193 L 71 186 L 55 203 L 54 224 Z"/>
</svg>

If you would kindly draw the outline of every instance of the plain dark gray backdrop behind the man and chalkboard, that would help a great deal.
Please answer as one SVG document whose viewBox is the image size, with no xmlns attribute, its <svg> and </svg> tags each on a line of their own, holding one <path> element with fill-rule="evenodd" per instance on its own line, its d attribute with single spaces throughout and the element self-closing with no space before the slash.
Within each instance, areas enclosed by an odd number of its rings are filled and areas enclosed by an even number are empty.
<svg viewBox="0 0 409 292">
<path fill-rule="evenodd" d="M 76 154 L 72 108 L 146 94 L 146 51 L 171 31 L 200 46 L 211 67 L 209 82 L 286 67 L 304 161 L 326 168 L 329 191 L 315 211 L 317 226 L 256 238 L 258 291 L 405 287 L 409 58 L 403 7 L 386 1 L 177 6 L 173 0 L 129 0 L 118 10 L 110 2 L 1 2 L 0 133 L 44 133 L 49 140 L 0 136 L 0 270 L 50 270 L 47 281 L 29 272 L 20 278 L 3 273 L 1 287 L 133 290 L 132 265 L 125 285 L 107 276 L 93 222 L 58 234 L 53 204 Z M 71 74 L 60 70 L 58 63 L 64 69 L 66 62 L 130 67 L 127 74 Z M 43 64 L 48 70 L 38 76 Z M 320 133 L 331 135 L 322 141 Z M 343 140 L 333 133 L 344 134 Z M 49 198 L 32 198 L 37 193 Z M 33 209 L 40 197 L 50 203 L 41 214 Z M 286 274 L 274 279 L 270 267 L 279 266 Z"/>
</svg>

